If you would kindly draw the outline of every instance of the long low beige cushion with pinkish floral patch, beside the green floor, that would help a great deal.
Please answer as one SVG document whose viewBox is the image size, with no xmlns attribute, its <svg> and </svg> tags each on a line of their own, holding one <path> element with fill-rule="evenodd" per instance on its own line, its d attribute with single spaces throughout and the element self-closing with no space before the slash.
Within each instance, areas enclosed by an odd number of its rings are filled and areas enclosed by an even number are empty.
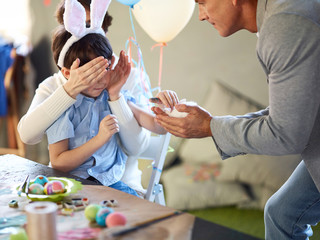
<svg viewBox="0 0 320 240">
<path fill-rule="evenodd" d="M 235 205 L 250 200 L 236 182 L 216 181 L 218 164 L 180 164 L 162 174 L 166 204 L 175 209 L 201 209 Z"/>
</svg>

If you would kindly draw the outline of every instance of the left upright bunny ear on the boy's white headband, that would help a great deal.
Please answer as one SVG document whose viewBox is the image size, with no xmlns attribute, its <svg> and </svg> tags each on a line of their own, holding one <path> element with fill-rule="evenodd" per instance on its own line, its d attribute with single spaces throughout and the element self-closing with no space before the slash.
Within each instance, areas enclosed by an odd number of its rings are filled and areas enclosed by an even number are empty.
<svg viewBox="0 0 320 240">
<path fill-rule="evenodd" d="M 66 0 L 63 15 L 65 28 L 77 38 L 86 31 L 86 11 L 77 0 Z"/>
</svg>

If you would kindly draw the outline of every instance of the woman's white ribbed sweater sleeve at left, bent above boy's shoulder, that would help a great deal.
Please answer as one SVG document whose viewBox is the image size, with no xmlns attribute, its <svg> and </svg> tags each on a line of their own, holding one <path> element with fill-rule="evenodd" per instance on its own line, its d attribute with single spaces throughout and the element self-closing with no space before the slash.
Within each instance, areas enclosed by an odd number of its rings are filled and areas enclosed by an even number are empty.
<svg viewBox="0 0 320 240">
<path fill-rule="evenodd" d="M 45 130 L 74 102 L 75 99 L 68 95 L 62 85 L 57 89 L 39 86 L 28 112 L 19 121 L 21 140 L 26 144 L 39 143 Z"/>
</svg>

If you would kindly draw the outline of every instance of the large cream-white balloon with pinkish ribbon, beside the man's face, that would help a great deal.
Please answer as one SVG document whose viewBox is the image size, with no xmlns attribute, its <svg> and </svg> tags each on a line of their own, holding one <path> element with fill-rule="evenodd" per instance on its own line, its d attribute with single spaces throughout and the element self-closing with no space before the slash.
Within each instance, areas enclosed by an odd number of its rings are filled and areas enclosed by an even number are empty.
<svg viewBox="0 0 320 240">
<path fill-rule="evenodd" d="M 141 0 L 132 11 L 153 40 L 169 42 L 187 25 L 194 6 L 194 0 Z"/>
</svg>

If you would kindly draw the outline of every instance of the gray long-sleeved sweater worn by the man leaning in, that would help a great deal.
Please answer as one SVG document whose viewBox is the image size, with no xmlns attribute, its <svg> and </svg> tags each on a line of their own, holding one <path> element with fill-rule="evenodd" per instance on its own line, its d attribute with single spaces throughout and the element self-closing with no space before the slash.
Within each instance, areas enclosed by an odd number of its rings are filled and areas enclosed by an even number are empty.
<svg viewBox="0 0 320 240">
<path fill-rule="evenodd" d="M 222 159 L 301 154 L 320 191 L 320 1 L 258 0 L 257 25 L 269 107 L 213 117 L 213 139 Z"/>
</svg>

